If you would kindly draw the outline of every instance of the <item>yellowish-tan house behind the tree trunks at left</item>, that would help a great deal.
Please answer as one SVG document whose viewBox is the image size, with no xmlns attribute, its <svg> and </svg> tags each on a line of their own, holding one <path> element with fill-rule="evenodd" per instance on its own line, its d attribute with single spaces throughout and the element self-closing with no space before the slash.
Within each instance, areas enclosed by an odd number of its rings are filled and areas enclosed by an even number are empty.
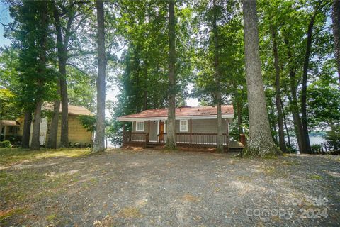
<svg viewBox="0 0 340 227">
<path fill-rule="evenodd" d="M 45 113 L 47 111 L 53 111 L 52 104 L 44 104 L 42 106 L 42 111 Z M 58 123 L 57 131 L 57 146 L 60 146 L 61 139 L 61 113 L 62 109 L 60 106 L 60 119 Z M 91 145 L 93 133 L 91 131 L 86 131 L 86 128 L 81 124 L 79 116 L 87 115 L 91 116 L 92 113 L 88 109 L 82 106 L 72 106 L 69 105 L 69 144 L 70 145 L 81 145 L 87 146 Z M 45 145 L 47 143 L 48 136 L 50 135 L 51 117 L 47 117 L 48 114 L 43 114 L 40 122 L 40 145 Z M 24 118 L 20 117 L 16 121 L 2 120 L 1 127 L 1 139 L 2 140 L 17 140 L 20 141 L 23 135 L 23 121 Z M 30 142 L 33 134 L 33 122 L 30 126 Z"/>
</svg>

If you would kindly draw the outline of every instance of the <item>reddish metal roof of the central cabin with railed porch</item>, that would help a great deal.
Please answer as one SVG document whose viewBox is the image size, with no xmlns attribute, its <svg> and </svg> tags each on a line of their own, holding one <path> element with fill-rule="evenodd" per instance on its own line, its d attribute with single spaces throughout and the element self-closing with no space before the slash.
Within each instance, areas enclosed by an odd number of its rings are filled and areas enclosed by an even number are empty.
<svg viewBox="0 0 340 227">
<path fill-rule="evenodd" d="M 234 114 L 232 105 L 222 105 L 222 114 Z M 176 116 L 210 116 L 217 115 L 217 106 L 198 106 L 176 108 Z M 137 114 L 120 116 L 119 118 L 157 118 L 167 117 L 168 109 L 148 109 Z M 118 118 L 118 119 L 119 119 Z"/>
</svg>

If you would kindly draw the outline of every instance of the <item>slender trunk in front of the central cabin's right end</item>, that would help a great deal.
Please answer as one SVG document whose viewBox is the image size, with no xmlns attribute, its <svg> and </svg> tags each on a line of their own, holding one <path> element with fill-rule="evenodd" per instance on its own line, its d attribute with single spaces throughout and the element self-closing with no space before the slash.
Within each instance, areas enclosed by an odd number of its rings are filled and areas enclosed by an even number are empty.
<svg viewBox="0 0 340 227">
<path fill-rule="evenodd" d="M 220 82 L 220 62 L 219 62 L 219 47 L 218 47 L 218 28 L 217 28 L 217 6 L 216 0 L 213 3 L 213 18 L 212 18 L 212 33 L 215 48 L 215 82 L 216 82 L 216 101 L 217 101 L 217 152 L 223 151 L 223 126 L 222 126 L 222 92 Z"/>
</svg>

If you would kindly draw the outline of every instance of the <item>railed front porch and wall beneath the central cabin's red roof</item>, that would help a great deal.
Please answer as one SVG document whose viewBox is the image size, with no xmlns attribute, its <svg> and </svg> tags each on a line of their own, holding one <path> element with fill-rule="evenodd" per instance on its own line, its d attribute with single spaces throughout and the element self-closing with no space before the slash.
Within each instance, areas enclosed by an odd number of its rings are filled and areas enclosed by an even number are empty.
<svg viewBox="0 0 340 227">
<path fill-rule="evenodd" d="M 183 147 L 214 148 L 217 146 L 217 119 L 186 119 L 176 120 L 176 145 Z M 229 148 L 229 122 L 222 119 L 223 144 Z M 154 147 L 166 144 L 166 120 L 132 121 L 130 131 L 123 123 L 123 145 L 136 145 L 141 147 Z M 206 131 L 206 132 L 203 132 Z"/>
</svg>

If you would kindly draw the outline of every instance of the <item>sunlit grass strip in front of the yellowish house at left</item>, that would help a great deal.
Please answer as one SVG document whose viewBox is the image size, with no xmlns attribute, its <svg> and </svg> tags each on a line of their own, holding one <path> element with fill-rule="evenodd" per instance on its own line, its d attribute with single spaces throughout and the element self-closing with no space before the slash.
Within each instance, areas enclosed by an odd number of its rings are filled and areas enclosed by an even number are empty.
<svg viewBox="0 0 340 227">
<path fill-rule="evenodd" d="M 88 149 L 28 150 L 21 148 L 1 148 L 0 165 L 12 165 L 17 162 L 40 160 L 50 157 L 80 157 L 89 155 Z"/>
</svg>

